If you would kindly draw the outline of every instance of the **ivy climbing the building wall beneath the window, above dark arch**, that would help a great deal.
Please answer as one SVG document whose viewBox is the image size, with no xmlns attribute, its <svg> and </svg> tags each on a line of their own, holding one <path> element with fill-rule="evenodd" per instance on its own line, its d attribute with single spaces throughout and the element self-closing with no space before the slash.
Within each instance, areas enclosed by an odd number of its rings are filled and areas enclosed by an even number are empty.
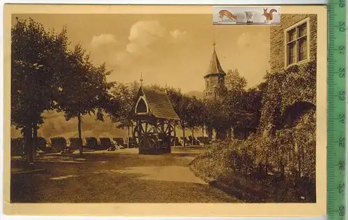
<svg viewBox="0 0 348 220">
<path fill-rule="evenodd" d="M 260 130 L 276 130 L 289 105 L 298 101 L 316 103 L 317 62 L 294 65 L 285 71 L 267 73 L 262 85 Z"/>
</svg>

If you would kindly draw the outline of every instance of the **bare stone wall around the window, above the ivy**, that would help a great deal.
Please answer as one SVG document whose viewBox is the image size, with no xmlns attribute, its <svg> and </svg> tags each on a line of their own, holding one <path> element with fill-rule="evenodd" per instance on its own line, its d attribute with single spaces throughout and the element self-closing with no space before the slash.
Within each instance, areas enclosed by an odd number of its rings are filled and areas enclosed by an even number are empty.
<svg viewBox="0 0 348 220">
<path fill-rule="evenodd" d="M 317 58 L 317 15 L 281 15 L 271 26 L 271 71 L 281 71 Z"/>
</svg>

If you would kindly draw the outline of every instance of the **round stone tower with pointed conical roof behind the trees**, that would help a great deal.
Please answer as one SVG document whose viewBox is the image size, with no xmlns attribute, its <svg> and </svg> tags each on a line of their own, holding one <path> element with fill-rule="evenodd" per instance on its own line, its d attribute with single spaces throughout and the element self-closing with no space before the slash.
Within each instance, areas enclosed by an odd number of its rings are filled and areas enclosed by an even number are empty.
<svg viewBox="0 0 348 220">
<path fill-rule="evenodd" d="M 204 98 L 216 98 L 217 90 L 225 86 L 226 73 L 223 71 L 218 56 L 215 51 L 215 42 L 213 44 L 213 54 L 210 60 L 209 69 L 204 76 L 205 90 Z"/>
</svg>

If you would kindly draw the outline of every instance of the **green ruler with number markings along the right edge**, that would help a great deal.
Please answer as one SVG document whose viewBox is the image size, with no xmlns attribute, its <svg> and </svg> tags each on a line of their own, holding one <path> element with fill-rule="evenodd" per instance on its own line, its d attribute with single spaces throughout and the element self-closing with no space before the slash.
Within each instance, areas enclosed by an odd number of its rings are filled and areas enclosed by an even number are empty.
<svg viewBox="0 0 348 220">
<path fill-rule="evenodd" d="M 346 0 L 329 0 L 327 214 L 347 219 L 346 204 Z M 348 118 L 348 117 L 347 117 Z"/>
</svg>

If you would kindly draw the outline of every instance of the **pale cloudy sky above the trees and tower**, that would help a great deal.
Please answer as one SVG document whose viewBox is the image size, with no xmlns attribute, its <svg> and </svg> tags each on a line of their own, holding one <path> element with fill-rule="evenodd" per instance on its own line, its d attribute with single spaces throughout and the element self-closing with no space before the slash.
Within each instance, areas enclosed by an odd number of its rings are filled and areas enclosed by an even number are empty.
<svg viewBox="0 0 348 220">
<path fill-rule="evenodd" d="M 212 15 L 13 15 L 47 29 L 67 25 L 72 45 L 81 42 L 96 65 L 113 69 L 109 81 L 138 81 L 203 91 L 203 76 L 216 52 L 225 71 L 238 69 L 248 86 L 269 69 L 269 27 L 213 26 Z"/>
</svg>

